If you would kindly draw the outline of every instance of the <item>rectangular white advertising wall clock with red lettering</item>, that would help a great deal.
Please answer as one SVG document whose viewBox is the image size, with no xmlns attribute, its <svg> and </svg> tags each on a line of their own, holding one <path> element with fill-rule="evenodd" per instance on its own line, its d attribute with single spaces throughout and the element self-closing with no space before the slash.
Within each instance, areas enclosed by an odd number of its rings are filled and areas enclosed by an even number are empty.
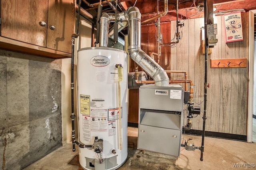
<svg viewBox="0 0 256 170">
<path fill-rule="evenodd" d="M 224 15 L 226 43 L 243 40 L 241 12 Z"/>
</svg>

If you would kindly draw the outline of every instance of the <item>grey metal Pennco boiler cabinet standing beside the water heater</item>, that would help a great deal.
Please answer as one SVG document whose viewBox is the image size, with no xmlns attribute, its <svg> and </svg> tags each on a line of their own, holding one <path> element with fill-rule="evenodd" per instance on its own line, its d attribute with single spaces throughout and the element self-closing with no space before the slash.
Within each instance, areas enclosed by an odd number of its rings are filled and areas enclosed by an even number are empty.
<svg viewBox="0 0 256 170">
<path fill-rule="evenodd" d="M 183 101 L 180 85 L 140 86 L 138 149 L 180 155 Z"/>
</svg>

